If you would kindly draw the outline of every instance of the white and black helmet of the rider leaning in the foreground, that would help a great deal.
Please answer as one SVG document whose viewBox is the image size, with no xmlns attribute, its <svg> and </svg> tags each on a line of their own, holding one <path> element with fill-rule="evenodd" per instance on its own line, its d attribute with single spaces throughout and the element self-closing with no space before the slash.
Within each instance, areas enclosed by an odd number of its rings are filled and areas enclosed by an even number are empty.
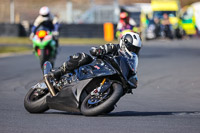
<svg viewBox="0 0 200 133">
<path fill-rule="evenodd" d="M 126 32 L 122 35 L 119 45 L 122 50 L 125 50 L 129 54 L 131 52 L 138 54 L 142 47 L 142 42 L 138 33 Z"/>
</svg>

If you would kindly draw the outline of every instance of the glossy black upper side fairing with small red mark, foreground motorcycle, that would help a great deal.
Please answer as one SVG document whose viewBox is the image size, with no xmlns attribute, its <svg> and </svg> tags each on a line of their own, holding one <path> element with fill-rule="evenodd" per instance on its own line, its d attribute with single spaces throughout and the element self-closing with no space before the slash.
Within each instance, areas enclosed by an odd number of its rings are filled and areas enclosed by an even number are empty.
<svg viewBox="0 0 200 133">
<path fill-rule="evenodd" d="M 101 59 L 96 59 L 88 65 L 79 67 L 77 70 L 77 78 L 84 80 L 116 73 L 115 69 L 109 63 Z"/>
</svg>

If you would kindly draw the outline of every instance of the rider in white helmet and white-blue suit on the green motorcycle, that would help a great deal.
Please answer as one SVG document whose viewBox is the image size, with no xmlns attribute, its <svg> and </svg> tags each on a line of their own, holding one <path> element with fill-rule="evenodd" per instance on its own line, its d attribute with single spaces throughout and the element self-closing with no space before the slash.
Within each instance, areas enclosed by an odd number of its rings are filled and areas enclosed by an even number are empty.
<svg viewBox="0 0 200 133">
<path fill-rule="evenodd" d="M 53 37 L 56 41 L 56 46 L 58 47 L 58 36 L 59 36 L 59 22 L 58 18 L 55 17 L 49 10 L 47 6 L 41 7 L 39 11 L 39 16 L 35 19 L 33 27 L 31 29 L 30 39 L 33 39 L 37 28 L 40 26 L 46 26 L 53 32 Z"/>
</svg>

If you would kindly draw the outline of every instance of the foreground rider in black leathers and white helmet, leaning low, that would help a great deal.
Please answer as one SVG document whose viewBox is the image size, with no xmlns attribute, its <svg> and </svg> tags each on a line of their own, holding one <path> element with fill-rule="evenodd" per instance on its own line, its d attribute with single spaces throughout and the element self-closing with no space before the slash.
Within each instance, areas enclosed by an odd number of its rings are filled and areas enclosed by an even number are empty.
<svg viewBox="0 0 200 133">
<path fill-rule="evenodd" d="M 106 54 L 113 54 L 115 56 L 123 56 L 127 59 L 128 65 L 131 68 L 131 74 L 128 75 L 128 82 L 132 88 L 137 88 L 137 66 L 138 54 L 142 44 L 138 33 L 127 32 L 120 39 L 119 44 L 105 44 L 99 47 L 91 47 L 90 54 L 92 56 L 102 56 Z M 66 73 L 73 72 L 74 69 L 92 62 L 92 57 L 85 53 L 77 53 L 70 56 L 67 61 L 63 63 L 57 70 L 53 70 L 50 75 L 57 81 Z"/>
</svg>

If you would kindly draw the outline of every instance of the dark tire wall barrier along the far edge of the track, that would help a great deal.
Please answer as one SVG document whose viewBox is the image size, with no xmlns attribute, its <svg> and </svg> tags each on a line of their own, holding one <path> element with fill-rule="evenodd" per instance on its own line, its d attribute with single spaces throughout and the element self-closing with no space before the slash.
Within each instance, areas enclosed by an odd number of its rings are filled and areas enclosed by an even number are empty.
<svg viewBox="0 0 200 133">
<path fill-rule="evenodd" d="M 25 37 L 29 36 L 29 31 L 26 31 L 21 24 L 0 24 L 0 36 L 5 37 Z M 116 25 L 114 25 L 114 31 Z M 115 32 L 114 32 L 115 34 Z M 115 35 L 114 35 L 115 36 Z M 103 38 L 103 24 L 61 24 L 60 37 L 70 38 Z"/>
</svg>

